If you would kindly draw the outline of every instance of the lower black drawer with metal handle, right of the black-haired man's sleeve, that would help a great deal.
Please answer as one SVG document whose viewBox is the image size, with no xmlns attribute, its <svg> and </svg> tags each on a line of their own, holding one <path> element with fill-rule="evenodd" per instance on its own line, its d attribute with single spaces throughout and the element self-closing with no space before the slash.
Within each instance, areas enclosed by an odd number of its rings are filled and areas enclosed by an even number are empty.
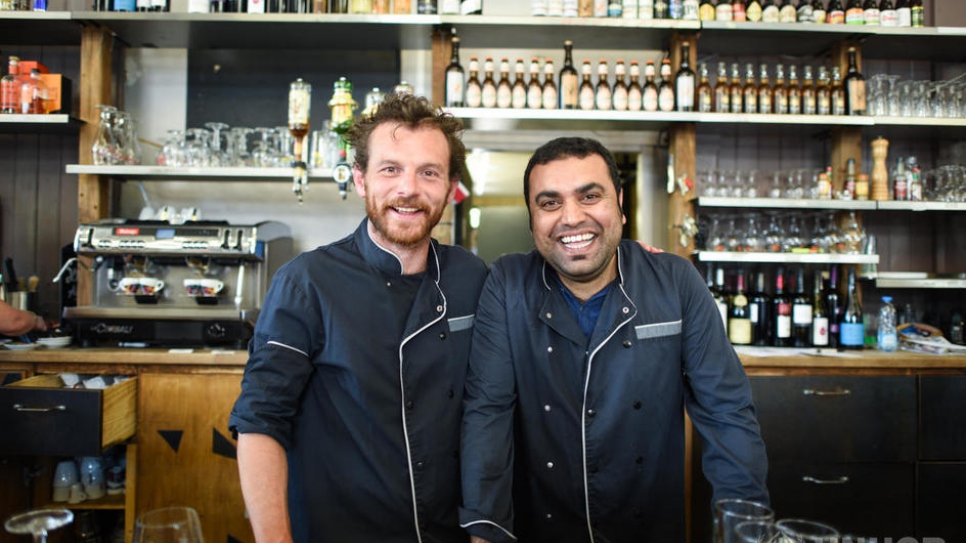
<svg viewBox="0 0 966 543">
<path fill-rule="evenodd" d="M 915 464 L 772 464 L 768 491 L 779 518 L 807 518 L 843 534 L 891 537 L 915 529 Z"/>
</svg>

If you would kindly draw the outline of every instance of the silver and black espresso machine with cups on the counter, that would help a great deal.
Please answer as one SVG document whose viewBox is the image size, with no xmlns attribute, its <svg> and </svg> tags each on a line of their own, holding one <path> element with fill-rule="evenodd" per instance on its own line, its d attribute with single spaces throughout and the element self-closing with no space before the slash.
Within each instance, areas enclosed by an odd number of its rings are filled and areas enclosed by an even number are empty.
<svg viewBox="0 0 966 543">
<path fill-rule="evenodd" d="M 91 305 L 64 308 L 82 345 L 243 348 L 275 271 L 292 258 L 274 221 L 106 219 L 82 224 L 78 256 L 92 257 Z"/>
</svg>

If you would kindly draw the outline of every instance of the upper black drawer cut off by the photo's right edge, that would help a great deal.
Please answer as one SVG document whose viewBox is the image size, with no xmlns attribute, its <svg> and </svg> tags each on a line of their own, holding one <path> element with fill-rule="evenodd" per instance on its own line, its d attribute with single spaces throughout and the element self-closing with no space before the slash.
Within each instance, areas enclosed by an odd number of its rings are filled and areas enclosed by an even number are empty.
<svg viewBox="0 0 966 543">
<path fill-rule="evenodd" d="M 919 405 L 919 459 L 966 461 L 966 376 L 920 377 Z"/>
</svg>

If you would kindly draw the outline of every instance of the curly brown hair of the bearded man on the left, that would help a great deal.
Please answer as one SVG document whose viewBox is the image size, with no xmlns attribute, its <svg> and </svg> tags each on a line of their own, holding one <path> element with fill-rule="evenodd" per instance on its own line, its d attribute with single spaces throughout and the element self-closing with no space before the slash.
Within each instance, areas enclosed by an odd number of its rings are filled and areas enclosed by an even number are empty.
<svg viewBox="0 0 966 543">
<path fill-rule="evenodd" d="M 466 147 L 460 139 L 463 123 L 432 105 L 422 96 L 391 93 L 369 116 L 352 124 L 346 139 L 355 149 L 355 164 L 363 172 L 369 167 L 369 136 L 381 124 L 399 124 L 408 128 L 437 128 L 449 143 L 449 178 L 457 181 L 466 161 Z"/>
</svg>

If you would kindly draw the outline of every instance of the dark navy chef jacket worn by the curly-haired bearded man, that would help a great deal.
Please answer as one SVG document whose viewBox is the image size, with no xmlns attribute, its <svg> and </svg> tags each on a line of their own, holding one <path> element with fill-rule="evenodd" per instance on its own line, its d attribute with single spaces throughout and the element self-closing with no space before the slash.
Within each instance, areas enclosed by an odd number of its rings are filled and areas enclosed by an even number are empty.
<svg viewBox="0 0 966 543">
<path fill-rule="evenodd" d="M 296 543 L 466 542 L 459 428 L 486 266 L 434 240 L 426 271 L 401 273 L 364 220 L 266 295 L 229 426 L 287 451 Z"/>
</svg>

